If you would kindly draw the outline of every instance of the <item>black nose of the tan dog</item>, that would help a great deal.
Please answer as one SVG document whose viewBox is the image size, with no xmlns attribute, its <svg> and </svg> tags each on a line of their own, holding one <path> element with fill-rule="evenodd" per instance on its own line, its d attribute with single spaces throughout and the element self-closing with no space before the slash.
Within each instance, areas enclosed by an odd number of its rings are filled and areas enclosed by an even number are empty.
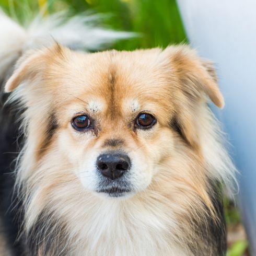
<svg viewBox="0 0 256 256">
<path fill-rule="evenodd" d="M 131 160 L 127 155 L 109 152 L 99 155 L 96 165 L 103 176 L 114 180 L 130 169 Z"/>
</svg>

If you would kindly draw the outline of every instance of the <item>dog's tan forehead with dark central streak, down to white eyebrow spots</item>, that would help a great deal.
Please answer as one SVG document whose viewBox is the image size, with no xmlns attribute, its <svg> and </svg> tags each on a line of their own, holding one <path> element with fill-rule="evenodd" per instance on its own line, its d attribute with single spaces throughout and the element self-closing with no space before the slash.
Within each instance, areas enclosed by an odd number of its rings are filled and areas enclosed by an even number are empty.
<svg viewBox="0 0 256 256">
<path fill-rule="evenodd" d="M 167 108 L 168 81 L 157 56 L 154 51 L 74 53 L 61 74 L 62 99 L 116 116 Z"/>
</svg>

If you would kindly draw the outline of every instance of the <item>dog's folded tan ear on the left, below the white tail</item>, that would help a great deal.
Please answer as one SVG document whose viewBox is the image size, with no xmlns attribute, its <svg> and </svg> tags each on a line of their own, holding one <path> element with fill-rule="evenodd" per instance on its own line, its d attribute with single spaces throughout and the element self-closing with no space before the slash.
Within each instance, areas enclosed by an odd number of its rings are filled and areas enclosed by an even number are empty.
<svg viewBox="0 0 256 256">
<path fill-rule="evenodd" d="M 52 48 L 28 51 L 20 57 L 16 63 L 13 74 L 7 80 L 5 92 L 11 92 L 20 84 L 32 82 L 36 77 L 43 76 L 48 63 L 55 59 L 56 55 L 63 54 L 63 48 L 55 44 Z"/>
</svg>

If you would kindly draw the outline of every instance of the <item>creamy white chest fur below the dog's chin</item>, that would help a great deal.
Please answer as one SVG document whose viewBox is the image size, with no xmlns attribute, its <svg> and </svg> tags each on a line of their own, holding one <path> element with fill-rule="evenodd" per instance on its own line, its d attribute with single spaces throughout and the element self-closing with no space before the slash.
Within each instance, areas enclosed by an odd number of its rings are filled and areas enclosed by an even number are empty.
<svg viewBox="0 0 256 256">
<path fill-rule="evenodd" d="M 69 221 L 74 255 L 90 256 L 185 256 L 178 244 L 176 222 L 168 207 L 148 202 L 105 200 L 81 205 Z M 156 203 L 156 202 L 155 202 Z M 81 214 L 84 208 L 83 216 Z M 169 213 L 168 213 L 169 212 Z M 72 239 L 73 240 L 73 239 Z"/>
</svg>

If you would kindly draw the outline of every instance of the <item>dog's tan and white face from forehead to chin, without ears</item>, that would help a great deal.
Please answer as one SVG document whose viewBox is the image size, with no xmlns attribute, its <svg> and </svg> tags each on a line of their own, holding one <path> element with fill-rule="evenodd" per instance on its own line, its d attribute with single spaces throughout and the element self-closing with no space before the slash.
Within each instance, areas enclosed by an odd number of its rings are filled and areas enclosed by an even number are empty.
<svg viewBox="0 0 256 256">
<path fill-rule="evenodd" d="M 165 71 L 148 63 L 154 54 L 92 54 L 57 78 L 64 96 L 54 112 L 63 122 L 58 147 L 86 190 L 142 191 L 171 152 L 171 95 Z"/>
</svg>

